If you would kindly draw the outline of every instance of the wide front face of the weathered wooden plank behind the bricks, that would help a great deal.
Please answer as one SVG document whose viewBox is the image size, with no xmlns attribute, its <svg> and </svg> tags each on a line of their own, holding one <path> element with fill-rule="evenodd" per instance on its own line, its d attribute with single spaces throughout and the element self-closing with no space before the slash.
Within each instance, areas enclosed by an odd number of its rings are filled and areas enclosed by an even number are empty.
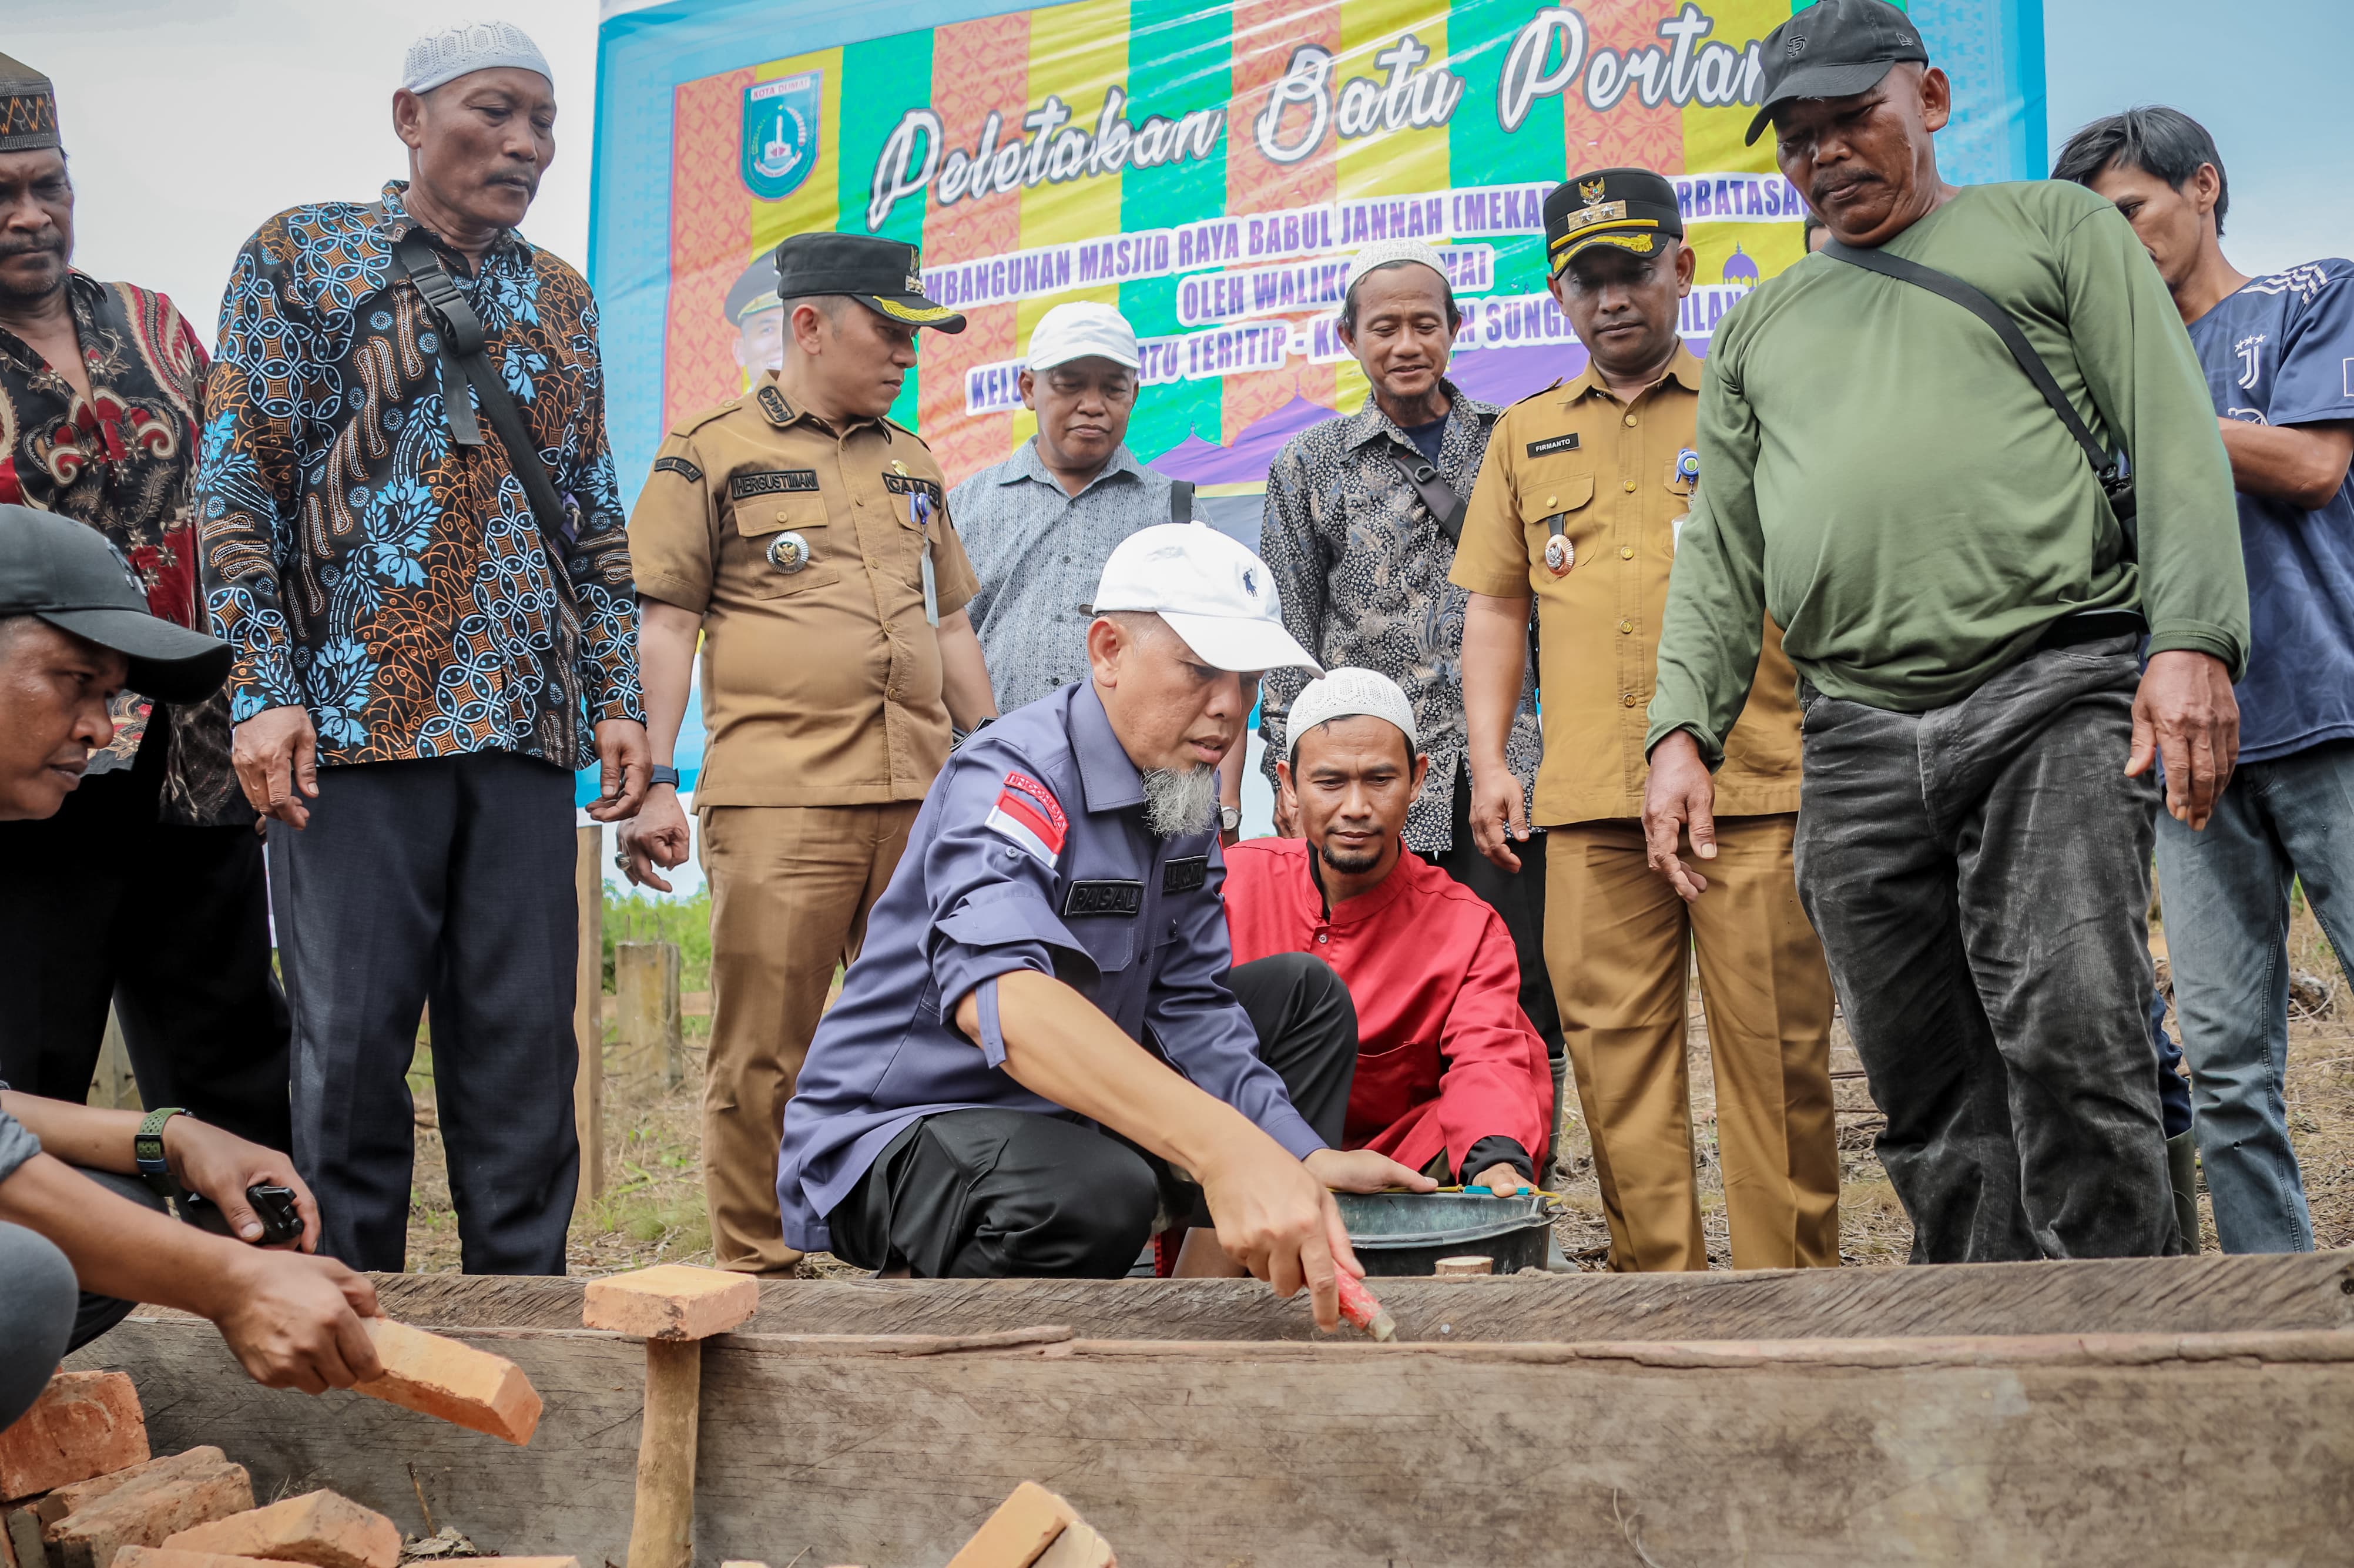
<svg viewBox="0 0 2354 1568">
<path fill-rule="evenodd" d="M 636 1340 L 464 1330 L 546 1396 L 530 1448 L 254 1387 L 132 1318 L 160 1450 L 332 1486 L 506 1554 L 624 1561 Z M 1617 1344 L 706 1342 L 697 1561 L 939 1563 L 1043 1479 L 1161 1563 L 2309 1561 L 2354 1535 L 2354 1335 Z M 2196 1469 L 2192 1469 L 2196 1467 Z"/>
</svg>

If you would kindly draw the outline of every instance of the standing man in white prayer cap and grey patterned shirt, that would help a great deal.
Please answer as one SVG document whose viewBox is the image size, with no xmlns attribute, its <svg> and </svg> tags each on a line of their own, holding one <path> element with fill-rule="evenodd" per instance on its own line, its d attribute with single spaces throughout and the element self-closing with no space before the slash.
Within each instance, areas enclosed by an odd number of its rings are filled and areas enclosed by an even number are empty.
<svg viewBox="0 0 2354 1568">
<path fill-rule="evenodd" d="M 1448 381 L 1462 313 L 1448 259 L 1422 240 L 1356 252 L 1339 306 L 1339 339 L 1372 384 L 1365 407 L 1292 436 L 1266 476 L 1259 558 L 1283 596 L 1283 624 L 1325 669 L 1370 669 L 1405 690 L 1429 777 L 1405 812 L 1405 848 L 1478 892 L 1504 918 L 1521 961 L 1521 1010 L 1561 1074 L 1561 1012 L 1544 972 L 1544 838 L 1516 845 L 1521 869 L 1490 864 L 1471 843 L 1462 636 L 1469 596 L 1448 582 L 1464 504 L 1504 412 Z M 1264 768 L 1290 756 L 1290 706 L 1304 678 L 1269 671 L 1259 697 Z M 1532 673 L 1504 756 L 1537 772 Z M 1276 831 L 1299 822 L 1276 784 Z M 1542 1175 L 1542 1172 L 1540 1172 Z"/>
</svg>

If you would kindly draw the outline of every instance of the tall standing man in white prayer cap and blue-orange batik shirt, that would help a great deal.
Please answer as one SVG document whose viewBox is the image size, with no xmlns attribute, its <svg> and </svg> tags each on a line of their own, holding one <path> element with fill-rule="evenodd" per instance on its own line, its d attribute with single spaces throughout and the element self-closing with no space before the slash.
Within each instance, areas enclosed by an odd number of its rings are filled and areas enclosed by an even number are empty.
<svg viewBox="0 0 2354 1568">
<path fill-rule="evenodd" d="M 468 1274 L 563 1274 L 574 779 L 650 777 L 596 304 L 516 233 L 556 158 L 520 28 L 419 38 L 410 177 L 247 240 L 205 384 L 195 513 L 233 650 L 231 763 L 268 817 L 294 1163 L 320 1250 L 405 1264 L 405 1074 L 433 1076 Z"/>
</svg>

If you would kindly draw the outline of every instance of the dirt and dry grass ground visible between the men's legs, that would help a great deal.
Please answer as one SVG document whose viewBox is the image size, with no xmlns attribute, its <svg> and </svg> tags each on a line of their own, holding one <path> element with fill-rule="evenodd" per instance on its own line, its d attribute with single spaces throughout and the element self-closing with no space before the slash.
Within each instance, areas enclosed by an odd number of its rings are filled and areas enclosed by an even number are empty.
<svg viewBox="0 0 2354 1568">
<path fill-rule="evenodd" d="M 2163 937 L 2159 942 L 2163 949 Z M 2354 1245 L 2354 986 L 2340 972 L 2309 911 L 2298 909 L 2290 930 L 2290 968 L 2321 979 L 2326 1005 L 2312 1015 L 2293 1008 L 2288 1029 L 2288 1128 L 2305 1168 L 2314 1210 L 2314 1241 L 2323 1248 Z M 685 984 L 699 984 L 687 965 Z M 2307 994 L 2305 1001 L 2319 1001 Z M 605 1194 L 572 1227 L 574 1274 L 612 1274 L 654 1262 L 711 1262 L 711 1227 L 704 1217 L 697 1163 L 697 1099 L 701 1048 L 709 1017 L 687 996 L 685 1078 L 664 1088 L 659 1074 L 612 1074 L 605 1088 Z M 2305 1012 L 2302 1017 L 2295 1017 Z M 1700 1168 L 1702 1224 L 1709 1264 L 1730 1267 L 1725 1241 L 1723 1177 L 1716 1165 L 1716 1088 L 1709 1074 L 1709 1034 L 1700 1015 L 1697 986 L 1690 1008 L 1693 1144 Z M 2173 1019 L 2168 1019 L 2173 1029 Z M 612 1026 L 607 1026 L 607 1038 Z M 607 1059 L 617 1052 L 607 1045 Z M 1911 1224 L 1888 1184 L 1871 1137 L 1881 1125 L 1864 1092 L 1862 1069 L 1846 1029 L 1834 1029 L 1831 1071 L 1838 1102 L 1838 1250 L 1850 1267 L 1900 1264 L 1911 1248 Z M 410 1212 L 410 1269 L 419 1274 L 459 1267 L 457 1217 L 443 1168 L 443 1140 L 433 1114 L 431 1052 L 421 1050 L 410 1074 L 417 1095 L 417 1177 Z M 1594 1161 L 1575 1099 L 1561 1149 L 1556 1189 L 1568 1198 L 1556 1224 L 1561 1250 L 1580 1269 L 1605 1267 L 1608 1227 L 1594 1182 Z M 2215 1227 L 2201 1191 L 2203 1245 L 2215 1250 Z M 855 1274 L 831 1257 L 812 1257 L 812 1274 Z"/>
</svg>

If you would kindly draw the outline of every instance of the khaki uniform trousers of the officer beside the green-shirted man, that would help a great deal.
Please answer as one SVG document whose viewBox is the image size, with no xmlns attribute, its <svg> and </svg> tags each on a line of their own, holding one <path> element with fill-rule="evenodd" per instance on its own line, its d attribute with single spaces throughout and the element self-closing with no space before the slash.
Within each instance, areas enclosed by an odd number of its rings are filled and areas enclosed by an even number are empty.
<svg viewBox="0 0 2354 1568">
<path fill-rule="evenodd" d="M 1643 857 L 1641 822 L 1549 829 L 1544 963 L 1610 1267 L 1707 1269 L 1685 1074 L 1688 954 L 1716 1064 L 1716 1144 L 1735 1269 L 1838 1264 L 1831 975 L 1791 866 L 1798 819 L 1718 817 L 1709 890 L 1685 904 Z"/>
</svg>

